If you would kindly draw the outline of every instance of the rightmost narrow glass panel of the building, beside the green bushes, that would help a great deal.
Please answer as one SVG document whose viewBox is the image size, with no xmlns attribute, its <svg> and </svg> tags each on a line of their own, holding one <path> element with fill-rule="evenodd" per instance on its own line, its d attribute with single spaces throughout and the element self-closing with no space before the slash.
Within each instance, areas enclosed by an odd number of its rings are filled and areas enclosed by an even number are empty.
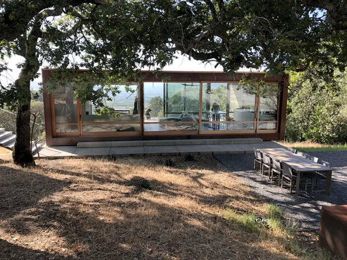
<svg viewBox="0 0 347 260">
<path fill-rule="evenodd" d="M 261 87 L 259 97 L 259 130 L 274 130 L 277 127 L 279 86 L 267 83 Z"/>
</svg>

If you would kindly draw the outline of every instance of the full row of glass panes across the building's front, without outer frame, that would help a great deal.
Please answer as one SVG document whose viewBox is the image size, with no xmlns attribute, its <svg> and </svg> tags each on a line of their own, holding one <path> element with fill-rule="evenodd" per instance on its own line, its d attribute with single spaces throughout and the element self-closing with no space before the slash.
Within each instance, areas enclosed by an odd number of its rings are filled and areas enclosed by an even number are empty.
<svg viewBox="0 0 347 260">
<path fill-rule="evenodd" d="M 200 83 L 145 82 L 144 131 L 198 131 Z M 98 86 L 95 86 L 98 88 Z M 105 104 L 115 114 L 98 115 L 92 102 L 81 104 L 82 132 L 140 131 L 138 85 L 118 86 L 119 94 Z M 202 84 L 202 131 L 254 130 L 259 112 L 259 130 L 277 127 L 278 84 L 270 83 L 258 90 L 238 83 Z M 57 133 L 78 132 L 77 100 L 70 84 L 55 91 Z M 259 103 L 259 111 L 256 104 Z"/>
</svg>

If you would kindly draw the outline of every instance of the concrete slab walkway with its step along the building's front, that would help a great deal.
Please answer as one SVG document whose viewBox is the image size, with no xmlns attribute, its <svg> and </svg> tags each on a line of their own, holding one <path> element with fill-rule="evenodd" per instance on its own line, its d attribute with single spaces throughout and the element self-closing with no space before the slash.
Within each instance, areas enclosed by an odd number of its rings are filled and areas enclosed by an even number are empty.
<svg viewBox="0 0 347 260">
<path fill-rule="evenodd" d="M 252 154 L 254 148 L 282 147 L 275 142 L 263 142 L 260 138 L 83 142 L 77 146 L 46 146 L 34 157 Z"/>
</svg>

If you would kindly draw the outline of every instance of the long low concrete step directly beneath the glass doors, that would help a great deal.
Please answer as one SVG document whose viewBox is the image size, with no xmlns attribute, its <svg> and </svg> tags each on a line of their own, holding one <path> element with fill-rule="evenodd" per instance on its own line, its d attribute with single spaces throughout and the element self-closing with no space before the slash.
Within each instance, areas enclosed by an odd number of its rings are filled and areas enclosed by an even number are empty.
<svg viewBox="0 0 347 260">
<path fill-rule="evenodd" d="M 77 143 L 77 148 L 172 146 L 172 145 L 259 144 L 262 142 L 263 142 L 263 140 L 261 138 L 106 141 L 106 142 L 79 142 L 79 143 Z"/>
</svg>

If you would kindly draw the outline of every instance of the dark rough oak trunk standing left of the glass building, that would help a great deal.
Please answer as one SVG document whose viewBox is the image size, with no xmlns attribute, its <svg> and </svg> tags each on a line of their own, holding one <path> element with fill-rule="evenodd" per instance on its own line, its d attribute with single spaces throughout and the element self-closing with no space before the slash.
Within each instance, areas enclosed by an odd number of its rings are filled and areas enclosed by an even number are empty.
<svg viewBox="0 0 347 260">
<path fill-rule="evenodd" d="M 30 79 L 27 70 L 22 69 L 15 87 L 20 90 L 20 97 L 16 117 L 16 140 L 13 148 L 13 162 L 22 167 L 34 166 L 35 161 L 31 153 L 31 127 L 30 127 Z"/>
</svg>

